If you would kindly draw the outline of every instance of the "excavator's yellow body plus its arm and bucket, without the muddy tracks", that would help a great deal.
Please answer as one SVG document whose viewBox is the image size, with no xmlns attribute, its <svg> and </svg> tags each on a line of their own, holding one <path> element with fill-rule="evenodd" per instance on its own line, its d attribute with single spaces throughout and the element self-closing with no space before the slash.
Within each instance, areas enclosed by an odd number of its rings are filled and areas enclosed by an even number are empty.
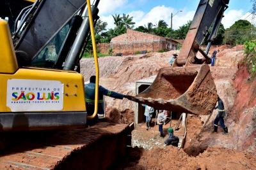
<svg viewBox="0 0 256 170">
<path fill-rule="evenodd" d="M 4 2 L 6 6 L 13 3 Z M 0 20 L 0 131 L 85 125 L 87 118 L 97 114 L 98 89 L 95 111 L 88 117 L 79 60 L 91 31 L 98 87 L 93 24 L 99 18 L 99 0 L 92 6 L 88 0 L 17 2 L 20 5 L 16 3 L 14 9 L 0 13 L 12 20 L 12 36 L 8 23 Z M 211 113 L 217 93 L 207 65 L 208 52 L 227 4 L 228 0 L 200 0 L 173 67 L 161 69 L 154 83 L 133 101 L 179 113 Z M 200 48 L 205 37 L 206 51 Z M 196 57 L 197 52 L 204 58 Z"/>
</svg>

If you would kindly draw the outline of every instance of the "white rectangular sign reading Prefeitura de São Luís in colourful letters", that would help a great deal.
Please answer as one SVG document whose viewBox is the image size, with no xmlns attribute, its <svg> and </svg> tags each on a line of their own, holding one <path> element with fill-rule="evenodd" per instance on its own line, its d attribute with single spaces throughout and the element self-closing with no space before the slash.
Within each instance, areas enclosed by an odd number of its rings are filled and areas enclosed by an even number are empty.
<svg viewBox="0 0 256 170">
<path fill-rule="evenodd" d="M 7 83 L 6 106 L 12 111 L 63 109 L 63 83 L 56 80 L 12 79 Z"/>
</svg>

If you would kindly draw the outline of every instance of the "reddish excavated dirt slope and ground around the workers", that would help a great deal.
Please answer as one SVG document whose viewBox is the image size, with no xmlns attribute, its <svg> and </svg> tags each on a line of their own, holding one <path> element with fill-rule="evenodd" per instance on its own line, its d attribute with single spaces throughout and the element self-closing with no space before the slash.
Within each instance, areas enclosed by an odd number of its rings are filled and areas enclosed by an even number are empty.
<svg viewBox="0 0 256 170">
<path fill-rule="evenodd" d="M 160 138 L 157 126 L 146 131 L 145 124 L 140 124 L 132 132 L 129 155 L 111 169 L 256 169 L 256 80 L 248 81 L 249 74 L 243 66 L 243 46 L 215 46 L 210 53 L 217 48 L 220 53 L 211 73 L 218 95 L 225 104 L 225 124 L 230 134 L 223 136 L 221 128 L 217 134 L 211 133 L 216 110 L 204 128 L 202 125 L 208 115 L 189 115 L 186 143 L 180 150 L 164 145 L 167 136 Z M 99 61 L 100 85 L 134 95 L 135 81 L 156 75 L 161 67 L 168 66 L 173 53 L 179 52 L 104 57 Z M 82 60 L 81 66 L 84 78 L 88 80 L 94 74 L 86 70 L 93 67 L 92 59 Z M 110 120 L 123 124 L 134 122 L 133 102 L 110 97 L 105 101 L 106 117 Z M 169 126 L 165 125 L 164 131 Z"/>
</svg>

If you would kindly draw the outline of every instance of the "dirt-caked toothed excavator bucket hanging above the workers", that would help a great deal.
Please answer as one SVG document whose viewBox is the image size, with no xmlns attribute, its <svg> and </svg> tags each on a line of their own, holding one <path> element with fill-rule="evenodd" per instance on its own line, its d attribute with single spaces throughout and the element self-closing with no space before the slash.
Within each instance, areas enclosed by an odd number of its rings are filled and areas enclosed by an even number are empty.
<svg viewBox="0 0 256 170">
<path fill-rule="evenodd" d="M 217 101 L 217 90 L 207 64 L 164 67 L 146 90 L 132 99 L 159 110 L 209 115 Z"/>
</svg>

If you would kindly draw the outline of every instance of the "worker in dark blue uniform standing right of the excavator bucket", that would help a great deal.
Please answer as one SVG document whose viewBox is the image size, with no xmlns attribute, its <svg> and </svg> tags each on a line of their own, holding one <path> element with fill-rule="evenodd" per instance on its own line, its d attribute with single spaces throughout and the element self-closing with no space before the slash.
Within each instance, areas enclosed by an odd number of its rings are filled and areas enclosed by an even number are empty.
<svg viewBox="0 0 256 170">
<path fill-rule="evenodd" d="M 218 108 L 218 114 L 214 120 L 214 129 L 212 132 L 216 133 L 218 131 L 218 123 L 220 122 L 220 127 L 222 127 L 224 130 L 223 134 L 228 135 L 228 127 L 224 124 L 224 117 L 226 115 L 224 103 L 219 96 L 218 96 L 218 106 L 216 106 L 214 109 L 217 109 L 217 108 Z"/>
</svg>

